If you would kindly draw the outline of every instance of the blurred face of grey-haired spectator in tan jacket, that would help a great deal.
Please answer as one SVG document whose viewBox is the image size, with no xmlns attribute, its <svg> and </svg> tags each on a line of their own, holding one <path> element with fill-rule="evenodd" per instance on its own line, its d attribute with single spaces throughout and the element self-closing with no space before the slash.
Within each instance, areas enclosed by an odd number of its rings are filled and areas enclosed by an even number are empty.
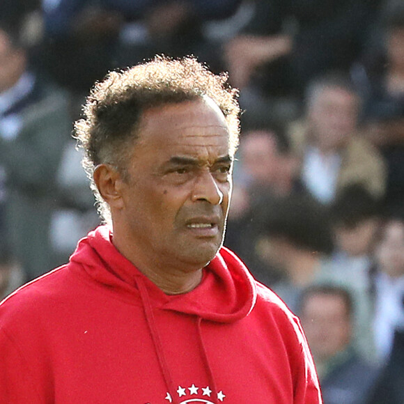
<svg viewBox="0 0 404 404">
<path fill-rule="evenodd" d="M 342 88 L 320 91 L 309 108 L 309 126 L 318 147 L 336 151 L 355 132 L 357 97 Z"/>
</svg>

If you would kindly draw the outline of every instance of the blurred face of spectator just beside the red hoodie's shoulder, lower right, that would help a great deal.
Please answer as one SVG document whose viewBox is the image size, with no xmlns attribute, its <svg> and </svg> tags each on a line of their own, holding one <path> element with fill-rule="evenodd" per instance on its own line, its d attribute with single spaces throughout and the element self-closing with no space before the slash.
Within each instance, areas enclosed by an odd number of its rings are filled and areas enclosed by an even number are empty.
<svg viewBox="0 0 404 404">
<path fill-rule="evenodd" d="M 316 360 L 333 357 L 350 342 L 350 316 L 339 295 L 316 293 L 307 297 L 300 320 Z"/>
</svg>

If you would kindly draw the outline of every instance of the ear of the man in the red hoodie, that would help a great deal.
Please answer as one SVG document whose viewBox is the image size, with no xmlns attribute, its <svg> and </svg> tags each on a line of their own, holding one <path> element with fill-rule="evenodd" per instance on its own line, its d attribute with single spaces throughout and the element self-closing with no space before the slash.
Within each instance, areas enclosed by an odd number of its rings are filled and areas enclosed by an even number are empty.
<svg viewBox="0 0 404 404">
<path fill-rule="evenodd" d="M 121 196 L 123 179 L 118 170 L 111 164 L 99 164 L 94 169 L 93 178 L 102 199 L 108 203 L 109 207 L 123 208 Z"/>
</svg>

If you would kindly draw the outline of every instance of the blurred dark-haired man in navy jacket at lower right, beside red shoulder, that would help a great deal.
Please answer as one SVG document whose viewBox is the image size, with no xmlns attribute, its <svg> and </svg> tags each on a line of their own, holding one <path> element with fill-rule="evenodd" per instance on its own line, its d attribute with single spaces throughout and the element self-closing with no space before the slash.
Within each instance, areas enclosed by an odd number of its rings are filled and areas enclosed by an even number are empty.
<svg viewBox="0 0 404 404">
<path fill-rule="evenodd" d="M 354 311 L 350 293 L 336 286 L 311 286 L 300 300 L 300 320 L 316 363 L 324 404 L 367 404 L 378 375 L 378 369 L 352 346 Z"/>
</svg>

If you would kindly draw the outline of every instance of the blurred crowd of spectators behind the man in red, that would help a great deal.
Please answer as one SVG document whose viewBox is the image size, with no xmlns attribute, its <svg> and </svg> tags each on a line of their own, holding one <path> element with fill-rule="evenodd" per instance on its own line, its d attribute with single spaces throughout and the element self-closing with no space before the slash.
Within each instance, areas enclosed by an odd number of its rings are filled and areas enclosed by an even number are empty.
<svg viewBox="0 0 404 404">
<path fill-rule="evenodd" d="M 72 123 L 155 54 L 240 89 L 225 245 L 300 316 L 325 404 L 403 404 L 402 0 L 1 0 L 0 297 L 98 225 Z"/>
</svg>

